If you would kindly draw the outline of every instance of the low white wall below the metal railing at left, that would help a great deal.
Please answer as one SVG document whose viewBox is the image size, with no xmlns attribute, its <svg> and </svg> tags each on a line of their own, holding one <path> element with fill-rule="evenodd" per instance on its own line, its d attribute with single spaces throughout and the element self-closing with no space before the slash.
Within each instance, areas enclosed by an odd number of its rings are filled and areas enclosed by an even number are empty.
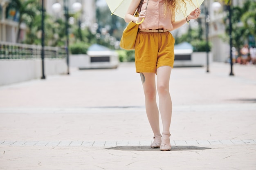
<svg viewBox="0 0 256 170">
<path fill-rule="evenodd" d="M 45 76 L 66 74 L 65 59 L 45 59 Z M 34 60 L 0 60 L 0 85 L 38 79 L 42 76 L 42 62 Z"/>
</svg>

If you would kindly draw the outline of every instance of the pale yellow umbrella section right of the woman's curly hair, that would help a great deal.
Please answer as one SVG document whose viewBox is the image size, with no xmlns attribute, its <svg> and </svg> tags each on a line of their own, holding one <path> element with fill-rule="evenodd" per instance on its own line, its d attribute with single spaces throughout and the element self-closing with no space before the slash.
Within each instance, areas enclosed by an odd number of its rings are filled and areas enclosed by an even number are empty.
<svg viewBox="0 0 256 170">
<path fill-rule="evenodd" d="M 180 10 L 177 10 L 175 13 L 176 21 L 186 18 L 186 16 L 189 15 L 193 10 L 195 10 L 195 8 L 199 8 L 204 0 L 192 0 L 192 3 L 185 0 L 185 2 L 186 7 L 185 4 L 181 2 L 181 0 L 176 0 L 176 4 L 181 4 Z"/>
</svg>

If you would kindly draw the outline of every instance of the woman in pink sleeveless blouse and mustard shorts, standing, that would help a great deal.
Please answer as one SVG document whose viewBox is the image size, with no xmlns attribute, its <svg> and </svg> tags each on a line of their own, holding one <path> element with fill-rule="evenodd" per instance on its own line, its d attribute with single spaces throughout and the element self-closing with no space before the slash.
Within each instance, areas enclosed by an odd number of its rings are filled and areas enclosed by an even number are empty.
<svg viewBox="0 0 256 170">
<path fill-rule="evenodd" d="M 179 11 L 180 3 L 190 3 L 190 1 L 144 0 L 139 17 L 135 17 L 133 14 L 140 0 L 132 0 L 125 16 L 126 22 L 141 22 L 144 18 L 144 22 L 139 25 L 135 43 L 135 66 L 136 72 L 141 76 L 146 114 L 154 133 L 151 148 L 160 148 L 162 151 L 171 150 L 169 137 L 171 135 L 172 102 L 169 93 L 169 80 L 174 62 L 175 40 L 169 31 L 189 23 L 191 19 L 198 18 L 201 11 L 196 8 L 183 20 L 175 21 L 175 10 Z M 157 82 L 155 82 L 155 75 L 157 75 Z M 162 135 L 159 129 L 157 92 L 163 124 Z"/>
</svg>

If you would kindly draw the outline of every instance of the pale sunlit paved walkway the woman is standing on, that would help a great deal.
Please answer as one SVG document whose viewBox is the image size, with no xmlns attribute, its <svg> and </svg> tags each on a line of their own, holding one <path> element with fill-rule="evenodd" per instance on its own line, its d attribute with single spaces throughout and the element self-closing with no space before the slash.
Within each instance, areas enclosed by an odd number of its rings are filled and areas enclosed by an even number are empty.
<svg viewBox="0 0 256 170">
<path fill-rule="evenodd" d="M 256 170 L 256 67 L 175 68 L 170 152 L 151 149 L 140 77 L 71 68 L 0 86 L 0 170 Z"/>
</svg>

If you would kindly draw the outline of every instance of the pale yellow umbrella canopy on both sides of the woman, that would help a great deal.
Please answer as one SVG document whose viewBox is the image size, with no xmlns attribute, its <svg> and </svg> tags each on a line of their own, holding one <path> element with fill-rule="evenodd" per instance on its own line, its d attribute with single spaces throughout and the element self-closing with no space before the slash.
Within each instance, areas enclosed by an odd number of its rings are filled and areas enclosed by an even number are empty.
<svg viewBox="0 0 256 170">
<path fill-rule="evenodd" d="M 182 4 L 182 6 L 180 8 L 180 11 L 175 14 L 175 20 L 182 20 L 183 18 L 186 18 L 186 16 L 189 15 L 189 13 L 191 13 L 191 11 L 193 11 L 196 7 L 200 7 L 203 1 L 204 0 L 192 0 L 192 4 L 187 2 L 186 10 L 184 4 L 180 3 Z M 121 18 L 124 18 L 132 0 L 106 0 L 106 2 L 111 11 L 111 15 L 114 14 Z"/>
</svg>

